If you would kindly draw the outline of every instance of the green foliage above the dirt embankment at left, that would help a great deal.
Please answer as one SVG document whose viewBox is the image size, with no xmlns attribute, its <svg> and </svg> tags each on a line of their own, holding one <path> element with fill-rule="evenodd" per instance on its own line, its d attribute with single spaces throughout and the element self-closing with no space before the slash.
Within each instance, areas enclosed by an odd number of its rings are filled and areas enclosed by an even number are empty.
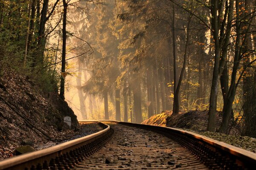
<svg viewBox="0 0 256 170">
<path fill-rule="evenodd" d="M 34 28 L 30 30 L 32 41 L 27 49 L 26 62 L 25 45 L 28 34 L 28 23 L 31 17 L 30 0 L 23 2 L 16 0 L 0 0 L 0 74 L 8 74 L 10 69 L 28 76 L 44 93 L 57 91 L 59 74 L 54 69 L 53 56 L 55 51 L 45 56 L 44 62 L 38 62 L 38 28 L 41 16 L 34 18 Z M 31 26 L 31 25 L 30 25 Z M 46 51 L 45 47 L 42 51 Z M 44 54 L 44 53 L 43 53 Z M 45 53 L 49 54 L 49 53 Z M 50 66 L 49 66 L 50 65 Z"/>
</svg>

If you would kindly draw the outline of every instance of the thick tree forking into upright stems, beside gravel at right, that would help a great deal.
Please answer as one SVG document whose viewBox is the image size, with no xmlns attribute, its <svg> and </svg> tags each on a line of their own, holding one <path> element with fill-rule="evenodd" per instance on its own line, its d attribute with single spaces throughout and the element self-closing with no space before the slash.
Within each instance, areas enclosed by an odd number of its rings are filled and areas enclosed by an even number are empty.
<svg viewBox="0 0 256 170">
<path fill-rule="evenodd" d="M 212 87 L 210 93 L 209 118 L 207 130 L 212 132 L 215 131 L 216 124 L 215 112 L 217 108 L 219 79 L 222 74 L 222 71 L 224 70 L 224 66 L 227 59 L 227 46 L 230 40 L 231 22 L 233 19 L 233 4 L 233 0 L 230 0 L 229 6 L 227 1 L 225 0 L 222 1 L 221 4 L 219 4 L 218 1 L 212 0 L 210 7 L 210 11 L 212 14 L 211 26 L 215 46 L 215 56 L 212 74 Z M 224 9 L 226 10 L 224 11 Z M 221 32 L 221 34 L 219 34 L 219 31 Z M 224 50 L 221 51 L 221 49 Z"/>
</svg>

